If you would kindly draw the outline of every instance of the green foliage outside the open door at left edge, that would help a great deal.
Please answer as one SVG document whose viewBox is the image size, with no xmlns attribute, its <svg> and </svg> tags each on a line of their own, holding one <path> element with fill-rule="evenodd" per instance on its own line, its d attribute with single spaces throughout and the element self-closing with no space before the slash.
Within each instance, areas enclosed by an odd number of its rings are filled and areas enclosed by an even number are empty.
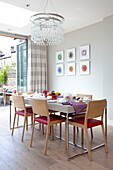
<svg viewBox="0 0 113 170">
<path fill-rule="evenodd" d="M 7 82 L 7 70 L 9 66 L 5 66 L 0 71 L 0 85 L 5 85 Z"/>
</svg>

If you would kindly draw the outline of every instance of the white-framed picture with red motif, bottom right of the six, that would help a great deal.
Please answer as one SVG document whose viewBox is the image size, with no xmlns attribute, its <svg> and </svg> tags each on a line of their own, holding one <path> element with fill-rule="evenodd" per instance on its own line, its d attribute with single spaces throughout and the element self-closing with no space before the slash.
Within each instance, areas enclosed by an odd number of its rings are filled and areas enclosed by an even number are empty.
<svg viewBox="0 0 113 170">
<path fill-rule="evenodd" d="M 89 75 L 89 61 L 80 62 L 80 75 Z"/>
</svg>

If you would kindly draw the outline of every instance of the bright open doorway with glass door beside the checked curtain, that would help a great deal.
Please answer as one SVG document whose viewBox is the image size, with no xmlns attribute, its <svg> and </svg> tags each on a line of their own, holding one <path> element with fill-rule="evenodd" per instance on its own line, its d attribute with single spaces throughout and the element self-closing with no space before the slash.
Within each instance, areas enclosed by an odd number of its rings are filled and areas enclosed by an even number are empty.
<svg viewBox="0 0 113 170">
<path fill-rule="evenodd" d="M 9 46 L 8 42 L 11 42 Z M 10 67 L 5 85 L 16 86 L 16 91 L 27 91 L 27 38 L 0 34 L 0 44 L 0 69 Z"/>
</svg>

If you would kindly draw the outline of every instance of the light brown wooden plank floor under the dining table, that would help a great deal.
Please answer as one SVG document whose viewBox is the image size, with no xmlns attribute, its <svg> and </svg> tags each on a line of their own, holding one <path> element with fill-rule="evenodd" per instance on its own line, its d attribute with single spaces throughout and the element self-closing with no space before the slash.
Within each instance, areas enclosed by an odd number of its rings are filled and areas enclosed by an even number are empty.
<svg viewBox="0 0 113 170">
<path fill-rule="evenodd" d="M 55 126 L 55 133 L 59 126 Z M 100 128 L 94 128 L 93 145 L 102 142 Z M 49 138 L 47 156 L 43 155 L 45 135 L 35 129 L 33 147 L 29 147 L 31 127 L 25 133 L 24 142 L 21 141 L 22 128 L 15 129 L 14 136 L 9 129 L 9 106 L 0 106 L 0 170 L 113 170 L 113 127 L 108 127 L 108 149 L 106 154 L 104 147 L 92 152 L 92 161 L 88 155 L 80 156 L 67 161 L 64 141 Z M 80 132 L 77 137 L 80 142 Z M 58 135 L 58 134 L 56 134 Z M 89 134 L 90 135 L 90 134 Z M 70 127 L 70 140 L 72 128 Z M 70 154 L 81 151 L 77 147 L 69 147 Z"/>
</svg>

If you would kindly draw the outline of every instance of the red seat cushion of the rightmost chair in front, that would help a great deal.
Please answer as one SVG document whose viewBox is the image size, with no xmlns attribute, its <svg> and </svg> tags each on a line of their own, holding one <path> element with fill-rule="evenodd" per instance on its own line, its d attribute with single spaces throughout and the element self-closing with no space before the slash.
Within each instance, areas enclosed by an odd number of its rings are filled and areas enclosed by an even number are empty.
<svg viewBox="0 0 113 170">
<path fill-rule="evenodd" d="M 84 120 L 85 120 L 85 117 L 81 117 L 81 118 L 73 118 L 70 121 L 84 125 Z M 102 125 L 102 124 L 103 124 L 103 121 L 101 120 L 88 119 L 87 128 L 91 128 L 91 127 Z"/>
</svg>

